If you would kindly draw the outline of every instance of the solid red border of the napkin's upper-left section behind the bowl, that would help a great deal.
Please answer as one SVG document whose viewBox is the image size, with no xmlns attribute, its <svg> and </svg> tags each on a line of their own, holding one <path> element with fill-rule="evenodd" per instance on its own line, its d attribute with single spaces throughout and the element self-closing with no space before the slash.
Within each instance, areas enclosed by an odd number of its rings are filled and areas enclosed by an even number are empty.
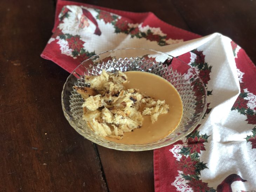
<svg viewBox="0 0 256 192">
<path fill-rule="evenodd" d="M 54 28 L 52 30 L 52 32 L 53 32 L 52 38 L 53 39 L 55 39 L 56 36 L 58 36 L 59 33 L 61 33 L 60 30 L 57 28 L 60 23 L 58 16 L 61 13 L 61 11 L 65 12 L 65 10 L 62 10 L 62 8 L 63 8 L 63 6 L 66 6 L 66 5 L 79 5 L 79 6 L 97 8 L 102 11 L 106 11 L 106 12 L 104 12 L 106 17 L 107 17 L 108 12 L 120 15 L 120 16 L 122 16 L 122 19 L 119 21 L 121 21 L 121 26 L 123 24 L 123 29 L 126 28 L 128 22 L 129 23 L 143 23 L 143 26 L 149 25 L 150 27 L 161 27 L 162 32 L 167 34 L 167 38 L 171 38 L 171 39 L 183 39 L 184 41 L 188 41 L 191 39 L 196 39 L 198 37 L 201 37 L 200 35 L 197 35 L 197 34 L 188 32 L 186 30 L 169 25 L 168 23 L 165 23 L 162 20 L 158 19 L 151 12 L 133 13 L 133 12 L 120 11 L 120 10 L 116 10 L 116 9 L 110 9 L 110 8 L 105 8 L 105 7 L 89 5 L 89 4 L 85 4 L 85 3 L 58 0 L 57 5 L 56 5 L 56 12 L 55 12 L 55 24 L 54 24 Z M 103 18 L 103 16 L 102 16 L 102 18 Z M 150 39 L 150 36 L 148 36 L 147 38 Z M 154 38 L 157 39 L 157 36 L 155 36 L 155 37 L 151 36 L 152 40 L 154 40 Z M 56 41 L 57 40 L 55 39 L 54 42 L 47 44 L 47 46 L 45 47 L 45 49 L 43 50 L 43 52 L 41 54 L 41 57 L 43 57 L 44 59 L 53 61 L 54 63 L 58 64 L 63 69 L 67 70 L 69 73 L 71 73 L 82 61 L 88 59 L 90 56 L 93 56 L 93 53 L 90 53 L 87 55 L 79 56 L 76 59 L 74 59 L 65 54 L 61 54 L 60 46 L 59 46 L 59 44 L 56 43 Z M 115 49 L 115 47 L 113 47 L 112 49 Z M 108 51 L 108 50 L 104 50 L 104 51 Z M 99 53 L 96 53 L 96 54 L 99 54 Z"/>
</svg>

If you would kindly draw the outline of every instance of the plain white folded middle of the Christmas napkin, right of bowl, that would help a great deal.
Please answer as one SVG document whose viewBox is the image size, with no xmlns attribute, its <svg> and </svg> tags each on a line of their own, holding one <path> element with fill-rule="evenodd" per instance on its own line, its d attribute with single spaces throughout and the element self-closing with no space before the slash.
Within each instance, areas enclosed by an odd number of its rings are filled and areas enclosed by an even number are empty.
<svg viewBox="0 0 256 192">
<path fill-rule="evenodd" d="M 200 179 L 208 183 L 209 187 L 216 189 L 223 181 L 222 176 L 235 173 L 247 182 L 233 182 L 231 185 L 233 191 L 254 191 L 256 189 L 256 151 L 245 138 L 252 134 L 251 130 L 255 125 L 245 121 L 246 115 L 237 110 L 230 110 L 240 94 L 237 74 L 241 74 L 241 71 L 236 68 L 230 41 L 228 37 L 214 33 L 157 50 L 174 56 L 193 49 L 201 50 L 206 55 L 205 62 L 213 66 L 210 81 L 207 84 L 207 89 L 212 90 L 212 95 L 207 97 L 210 103 L 209 108 L 212 109 L 202 119 L 198 129 L 200 135 L 210 135 L 208 143 L 204 143 L 206 150 L 201 151 L 200 156 L 200 162 L 207 163 L 208 169 L 200 172 Z M 242 81 L 241 76 L 240 81 Z M 255 103 L 256 101 L 254 106 Z M 186 140 L 183 142 L 186 145 Z M 179 152 L 172 149 L 170 151 L 174 156 Z M 183 184 L 186 185 L 186 181 Z M 187 188 L 191 190 L 189 186 Z"/>
</svg>

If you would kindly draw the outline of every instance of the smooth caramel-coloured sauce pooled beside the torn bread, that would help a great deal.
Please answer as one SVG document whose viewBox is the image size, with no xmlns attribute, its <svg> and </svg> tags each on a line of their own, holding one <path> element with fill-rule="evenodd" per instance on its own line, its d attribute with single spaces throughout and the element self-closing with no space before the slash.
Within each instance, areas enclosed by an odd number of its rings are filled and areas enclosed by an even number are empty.
<svg viewBox="0 0 256 192">
<path fill-rule="evenodd" d="M 151 123 L 149 115 L 143 115 L 141 128 L 133 132 L 125 132 L 123 139 L 106 137 L 116 143 L 123 144 L 147 144 L 168 136 L 178 126 L 182 118 L 182 101 L 178 91 L 164 78 L 155 74 L 142 71 L 127 71 L 126 89 L 135 88 L 147 96 L 159 100 L 165 100 L 169 105 L 169 112 L 158 116 L 157 121 Z"/>
</svg>

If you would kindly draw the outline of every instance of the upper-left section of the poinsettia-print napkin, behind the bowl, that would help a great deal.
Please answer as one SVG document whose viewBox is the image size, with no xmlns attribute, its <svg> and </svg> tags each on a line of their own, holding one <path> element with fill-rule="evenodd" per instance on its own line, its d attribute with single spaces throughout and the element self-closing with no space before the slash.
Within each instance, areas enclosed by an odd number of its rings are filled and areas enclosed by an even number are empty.
<svg viewBox="0 0 256 192">
<path fill-rule="evenodd" d="M 82 61 L 106 50 L 131 45 L 134 48 L 160 47 L 184 41 L 180 37 L 171 38 L 172 27 L 163 32 L 160 27 L 143 22 L 150 17 L 157 19 L 154 15 L 138 15 L 141 19 L 134 20 L 92 6 L 62 5 L 53 35 L 41 56 L 72 72 Z"/>
</svg>

